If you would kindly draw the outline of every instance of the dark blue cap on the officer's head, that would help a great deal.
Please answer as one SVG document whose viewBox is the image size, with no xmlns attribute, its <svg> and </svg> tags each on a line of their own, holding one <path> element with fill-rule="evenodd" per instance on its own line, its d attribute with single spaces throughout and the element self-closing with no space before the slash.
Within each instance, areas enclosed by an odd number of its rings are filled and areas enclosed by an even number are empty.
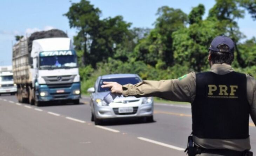
<svg viewBox="0 0 256 156">
<path fill-rule="evenodd" d="M 227 45 L 228 50 L 221 50 L 220 45 Z M 226 52 L 230 54 L 234 54 L 235 43 L 231 38 L 227 36 L 217 36 L 211 42 L 209 50 L 216 51 L 216 52 Z"/>
</svg>

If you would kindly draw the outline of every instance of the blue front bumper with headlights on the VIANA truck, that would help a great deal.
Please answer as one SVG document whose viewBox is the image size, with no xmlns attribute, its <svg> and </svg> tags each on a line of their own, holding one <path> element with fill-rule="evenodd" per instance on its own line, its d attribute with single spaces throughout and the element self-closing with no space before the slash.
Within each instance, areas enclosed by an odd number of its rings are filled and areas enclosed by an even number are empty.
<svg viewBox="0 0 256 156">
<path fill-rule="evenodd" d="M 42 92 L 44 96 L 40 94 Z M 38 101 L 77 100 L 81 97 L 80 83 L 73 83 L 68 88 L 49 88 L 47 85 L 40 85 L 36 96 Z"/>
</svg>

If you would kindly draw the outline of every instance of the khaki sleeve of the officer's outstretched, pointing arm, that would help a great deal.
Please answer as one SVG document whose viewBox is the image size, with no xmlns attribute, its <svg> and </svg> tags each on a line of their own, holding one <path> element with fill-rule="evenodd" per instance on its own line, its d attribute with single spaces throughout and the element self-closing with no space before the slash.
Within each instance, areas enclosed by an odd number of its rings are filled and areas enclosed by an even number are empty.
<svg viewBox="0 0 256 156">
<path fill-rule="evenodd" d="M 123 85 L 123 95 L 135 97 L 160 97 L 173 101 L 193 102 L 196 93 L 194 72 L 178 79 L 151 81 L 144 80 L 135 85 Z"/>
</svg>

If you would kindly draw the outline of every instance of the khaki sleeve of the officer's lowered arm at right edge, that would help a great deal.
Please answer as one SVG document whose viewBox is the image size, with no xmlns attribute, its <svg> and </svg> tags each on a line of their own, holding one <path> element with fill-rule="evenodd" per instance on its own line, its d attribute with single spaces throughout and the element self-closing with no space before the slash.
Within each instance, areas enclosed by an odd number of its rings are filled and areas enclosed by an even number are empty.
<svg viewBox="0 0 256 156">
<path fill-rule="evenodd" d="M 251 119 L 256 125 L 256 81 L 255 79 L 250 76 L 246 75 L 247 77 L 247 99 L 250 104 L 250 115 Z"/>
</svg>

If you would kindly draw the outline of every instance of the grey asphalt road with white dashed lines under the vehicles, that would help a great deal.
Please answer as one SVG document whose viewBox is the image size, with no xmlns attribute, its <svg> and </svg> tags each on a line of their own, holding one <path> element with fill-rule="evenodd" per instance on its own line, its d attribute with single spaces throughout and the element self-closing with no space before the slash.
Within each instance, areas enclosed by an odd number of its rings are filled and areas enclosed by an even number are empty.
<svg viewBox="0 0 256 156">
<path fill-rule="evenodd" d="M 154 105 L 153 123 L 143 120 L 90 121 L 88 98 L 80 105 L 35 107 L 15 96 L 0 97 L 1 156 L 184 156 L 191 133 L 188 105 Z M 252 151 L 256 130 L 250 121 Z"/>
</svg>

